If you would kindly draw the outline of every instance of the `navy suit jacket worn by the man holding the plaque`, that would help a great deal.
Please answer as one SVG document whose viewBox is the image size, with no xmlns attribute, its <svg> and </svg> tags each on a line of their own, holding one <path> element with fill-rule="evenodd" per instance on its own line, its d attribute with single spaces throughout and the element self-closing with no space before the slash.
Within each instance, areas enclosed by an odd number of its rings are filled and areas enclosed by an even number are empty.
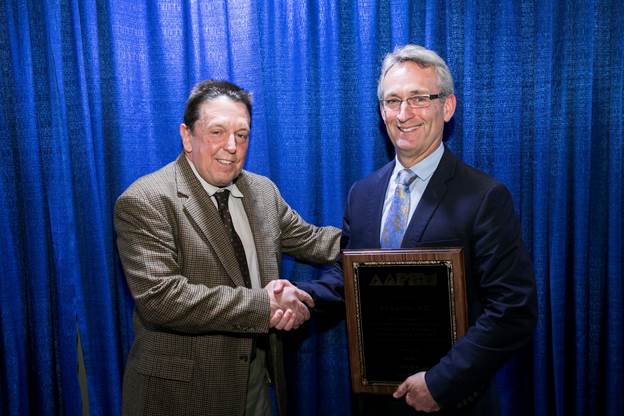
<svg viewBox="0 0 624 416">
<path fill-rule="evenodd" d="M 356 182 L 348 196 L 343 249 L 377 249 L 394 161 Z M 464 164 L 448 149 L 406 230 L 402 248 L 463 247 L 469 329 L 426 373 L 443 408 L 470 407 L 509 358 L 531 337 L 537 319 L 531 261 L 507 188 Z M 301 282 L 317 307 L 343 302 L 339 263 L 319 280 Z"/>
</svg>

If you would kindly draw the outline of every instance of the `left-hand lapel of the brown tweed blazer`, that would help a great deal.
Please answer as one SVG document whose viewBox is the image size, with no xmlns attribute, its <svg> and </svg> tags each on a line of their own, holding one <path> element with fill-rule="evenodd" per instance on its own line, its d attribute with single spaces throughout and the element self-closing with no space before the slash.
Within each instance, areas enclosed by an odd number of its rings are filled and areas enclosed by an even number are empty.
<svg viewBox="0 0 624 416">
<path fill-rule="evenodd" d="M 183 200 L 184 211 L 190 223 L 204 235 L 204 240 L 217 254 L 232 282 L 236 286 L 245 286 L 230 237 L 221 222 L 219 212 L 195 177 L 184 154 L 176 161 L 176 184 L 178 196 Z"/>
</svg>

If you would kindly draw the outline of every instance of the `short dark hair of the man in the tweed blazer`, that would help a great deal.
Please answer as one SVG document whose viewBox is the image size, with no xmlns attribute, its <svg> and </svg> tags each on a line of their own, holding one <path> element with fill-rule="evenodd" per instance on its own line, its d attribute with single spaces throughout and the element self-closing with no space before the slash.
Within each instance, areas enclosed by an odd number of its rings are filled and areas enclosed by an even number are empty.
<svg viewBox="0 0 624 416">
<path fill-rule="evenodd" d="M 200 105 L 222 95 L 230 98 L 232 101 L 245 104 L 251 119 L 251 93 L 231 82 L 211 79 L 196 84 L 191 90 L 184 108 L 184 124 L 193 130 L 195 122 L 199 119 Z"/>
</svg>

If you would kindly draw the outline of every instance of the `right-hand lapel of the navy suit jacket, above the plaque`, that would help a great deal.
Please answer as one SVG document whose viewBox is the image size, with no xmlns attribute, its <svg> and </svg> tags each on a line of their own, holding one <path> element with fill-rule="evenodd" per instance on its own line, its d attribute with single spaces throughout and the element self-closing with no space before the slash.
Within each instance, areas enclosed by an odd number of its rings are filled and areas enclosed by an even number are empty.
<svg viewBox="0 0 624 416">
<path fill-rule="evenodd" d="M 447 190 L 447 182 L 455 174 L 457 160 L 448 149 L 444 149 L 444 155 L 440 159 L 429 184 L 423 193 L 414 215 L 405 231 L 405 237 L 401 247 L 413 247 L 422 239 L 427 224 L 431 220 L 434 212 L 440 205 Z"/>
</svg>

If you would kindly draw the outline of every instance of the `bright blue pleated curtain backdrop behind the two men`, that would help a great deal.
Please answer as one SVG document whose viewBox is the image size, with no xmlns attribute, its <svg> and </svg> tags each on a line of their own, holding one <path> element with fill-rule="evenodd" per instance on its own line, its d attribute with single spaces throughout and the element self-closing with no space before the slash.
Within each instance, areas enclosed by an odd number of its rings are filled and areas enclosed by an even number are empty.
<svg viewBox="0 0 624 416">
<path fill-rule="evenodd" d="M 0 414 L 116 414 L 132 300 L 112 207 L 180 152 L 191 86 L 254 94 L 249 170 L 306 219 L 392 157 L 383 55 L 455 76 L 447 145 L 510 188 L 535 264 L 534 342 L 498 376 L 507 415 L 624 414 L 624 6 L 575 1 L 4 0 L 0 6 Z M 318 270 L 292 261 L 285 276 Z M 351 407 L 344 323 L 291 338 L 298 415 Z"/>
</svg>

